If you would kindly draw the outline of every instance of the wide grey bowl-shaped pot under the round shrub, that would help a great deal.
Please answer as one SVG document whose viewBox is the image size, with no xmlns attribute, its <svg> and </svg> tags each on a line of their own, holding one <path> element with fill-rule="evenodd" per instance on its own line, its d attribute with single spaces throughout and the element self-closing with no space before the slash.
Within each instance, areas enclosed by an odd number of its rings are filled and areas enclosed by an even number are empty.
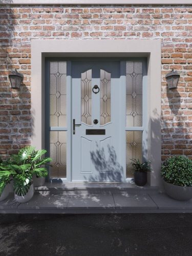
<svg viewBox="0 0 192 256">
<path fill-rule="evenodd" d="M 177 186 L 164 180 L 163 185 L 166 194 L 175 200 L 187 201 L 192 198 L 192 186 Z"/>
</svg>

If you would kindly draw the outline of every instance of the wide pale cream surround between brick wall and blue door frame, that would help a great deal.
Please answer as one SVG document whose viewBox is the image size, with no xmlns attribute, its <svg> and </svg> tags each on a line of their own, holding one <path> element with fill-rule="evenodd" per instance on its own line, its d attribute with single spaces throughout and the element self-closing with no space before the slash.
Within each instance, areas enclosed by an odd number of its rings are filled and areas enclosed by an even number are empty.
<svg viewBox="0 0 192 256">
<path fill-rule="evenodd" d="M 160 185 L 161 167 L 161 40 L 31 40 L 32 144 L 45 148 L 45 57 L 147 57 L 149 183 Z M 56 50 L 56 51 L 55 51 Z M 37 96 L 38 95 L 38 96 Z M 156 95 L 156 97 L 154 97 Z M 158 141 L 158 143 L 157 143 Z"/>
</svg>

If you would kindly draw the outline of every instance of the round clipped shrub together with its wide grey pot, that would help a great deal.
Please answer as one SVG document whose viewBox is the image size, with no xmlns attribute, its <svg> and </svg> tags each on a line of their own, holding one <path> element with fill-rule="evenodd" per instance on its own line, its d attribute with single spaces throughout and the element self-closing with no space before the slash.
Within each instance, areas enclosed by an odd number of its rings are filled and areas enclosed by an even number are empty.
<svg viewBox="0 0 192 256">
<path fill-rule="evenodd" d="M 167 158 L 161 167 L 164 189 L 176 200 L 192 198 L 192 160 L 185 156 Z"/>
</svg>

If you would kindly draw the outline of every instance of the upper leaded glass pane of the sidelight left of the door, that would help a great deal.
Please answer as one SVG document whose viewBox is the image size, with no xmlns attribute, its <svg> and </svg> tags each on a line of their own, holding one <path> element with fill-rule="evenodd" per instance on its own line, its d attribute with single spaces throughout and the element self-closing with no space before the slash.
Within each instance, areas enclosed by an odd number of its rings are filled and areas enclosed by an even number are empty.
<svg viewBox="0 0 192 256">
<path fill-rule="evenodd" d="M 50 61 L 50 126 L 67 126 L 67 63 Z"/>
</svg>

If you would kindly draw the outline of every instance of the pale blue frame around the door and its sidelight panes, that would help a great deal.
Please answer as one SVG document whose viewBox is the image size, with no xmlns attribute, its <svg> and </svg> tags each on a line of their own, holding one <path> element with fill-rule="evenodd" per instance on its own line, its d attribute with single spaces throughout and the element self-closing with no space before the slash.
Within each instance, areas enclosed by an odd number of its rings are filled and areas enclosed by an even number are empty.
<svg viewBox="0 0 192 256">
<path fill-rule="evenodd" d="M 124 115 L 124 118 L 121 119 L 121 126 L 123 127 L 122 134 L 121 134 L 121 141 L 126 141 L 126 132 L 127 131 L 142 131 L 142 150 L 144 152 L 143 160 L 147 160 L 147 71 L 146 71 L 146 58 L 142 57 L 124 57 L 124 58 L 63 58 L 63 57 L 48 57 L 45 58 L 45 147 L 47 150 L 48 155 L 50 155 L 50 140 L 49 132 L 50 131 L 66 131 L 67 132 L 67 175 L 66 178 L 48 178 L 49 181 L 58 182 L 58 181 L 72 181 L 72 140 L 73 140 L 73 133 L 72 133 L 72 62 L 73 61 L 119 61 L 120 65 L 120 78 L 119 84 L 123 84 L 119 88 L 121 91 L 120 95 L 122 96 L 121 101 L 122 104 L 120 106 L 121 113 Z M 50 61 L 66 61 L 67 62 L 67 127 L 50 127 L 49 123 L 49 112 L 50 112 L 50 105 L 49 105 L 49 90 L 50 90 Z M 143 94 L 142 94 L 142 126 L 141 127 L 126 127 L 126 61 L 142 61 L 143 62 Z M 124 97 L 123 97 L 124 96 Z M 46 100 L 47 99 L 47 100 Z M 146 114 L 144 113 L 146 111 Z M 130 181 L 132 178 L 126 178 L 126 143 L 122 144 L 122 152 L 121 154 L 121 164 L 123 167 L 123 175 L 124 180 Z"/>
</svg>

